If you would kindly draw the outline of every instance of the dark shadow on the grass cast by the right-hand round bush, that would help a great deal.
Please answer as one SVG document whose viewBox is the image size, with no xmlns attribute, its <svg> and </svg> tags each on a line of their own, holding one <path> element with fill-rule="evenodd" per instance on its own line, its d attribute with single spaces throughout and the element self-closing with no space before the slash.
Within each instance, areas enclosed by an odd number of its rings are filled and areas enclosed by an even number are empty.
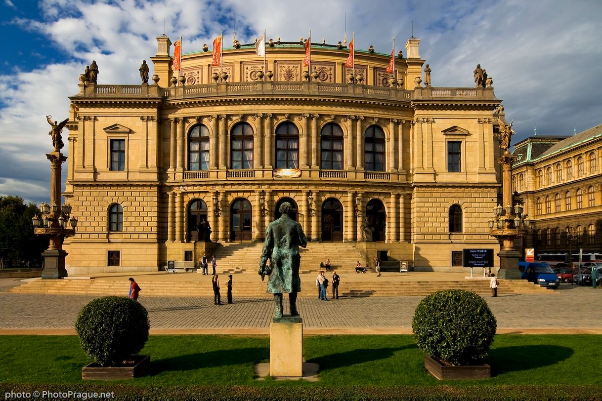
<svg viewBox="0 0 602 401">
<path fill-rule="evenodd" d="M 551 366 L 573 355 L 574 350 L 557 345 L 521 345 L 489 350 L 486 360 L 491 366 L 491 376 L 507 372 L 520 372 L 543 366 Z"/>
</svg>

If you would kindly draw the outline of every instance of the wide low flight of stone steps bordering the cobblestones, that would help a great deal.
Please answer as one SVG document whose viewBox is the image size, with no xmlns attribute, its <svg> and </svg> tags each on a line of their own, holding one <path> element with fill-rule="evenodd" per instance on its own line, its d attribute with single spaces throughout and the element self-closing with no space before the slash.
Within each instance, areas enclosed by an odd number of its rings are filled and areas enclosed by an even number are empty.
<svg viewBox="0 0 602 401">
<path fill-rule="evenodd" d="M 354 273 L 355 274 L 355 273 Z M 193 277 L 194 275 L 194 277 Z M 200 276 L 200 277 L 199 277 Z M 348 277 L 348 276 L 347 276 Z M 364 275 L 361 275 L 364 277 Z M 358 277 L 359 278 L 359 277 Z M 383 280 L 380 280 L 380 279 Z M 222 295 L 226 292 L 226 278 L 221 276 Z M 21 286 L 8 290 L 10 293 L 45 293 L 79 295 L 127 295 L 129 283 L 127 276 L 113 278 L 70 278 L 63 280 L 33 279 Z M 317 296 L 315 276 L 302 275 L 302 292 L 299 296 Z M 152 279 L 139 276 L 138 283 L 142 296 L 213 296 L 211 277 L 197 273 L 169 274 Z M 490 296 L 489 280 L 452 280 L 452 281 L 389 281 L 386 275 L 378 280 L 370 278 L 362 281 L 355 277 L 343 276 L 339 287 L 340 296 L 426 296 L 442 289 L 463 289 L 482 296 Z M 328 289 L 330 292 L 330 287 Z M 553 290 L 528 283 L 523 280 L 500 280 L 499 295 L 518 293 L 551 293 Z M 243 297 L 265 297 L 265 283 L 261 283 L 255 274 L 234 275 L 234 293 Z"/>
</svg>

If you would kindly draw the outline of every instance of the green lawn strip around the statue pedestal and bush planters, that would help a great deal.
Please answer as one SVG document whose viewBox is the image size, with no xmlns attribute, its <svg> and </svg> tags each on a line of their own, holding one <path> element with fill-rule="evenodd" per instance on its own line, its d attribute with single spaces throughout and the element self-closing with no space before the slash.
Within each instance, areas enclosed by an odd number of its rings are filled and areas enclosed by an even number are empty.
<svg viewBox="0 0 602 401">
<path fill-rule="evenodd" d="M 417 348 L 412 335 L 306 336 L 303 339 L 305 359 L 320 365 L 320 380 L 311 383 L 255 380 L 253 366 L 269 359 L 268 337 L 152 335 L 141 352 L 151 355 L 150 372 L 131 382 L 110 385 L 115 388 L 135 386 L 138 391 L 144 388 L 143 392 L 155 387 L 182 389 L 203 385 L 256 390 L 285 386 L 302 391 L 305 391 L 303 388 L 376 387 L 382 390 L 418 386 L 424 390 L 431 387 L 433 390 L 427 393 L 441 391 L 441 388 L 449 391 L 450 387 L 461 392 L 473 387 L 498 387 L 509 389 L 503 392 L 506 396 L 517 388 L 536 385 L 540 390 L 544 386 L 541 391 L 552 398 L 556 396 L 549 394 L 545 386 L 586 385 L 586 389 L 594 388 L 600 396 L 601 340 L 602 335 L 496 335 L 486 360 L 491 365 L 491 379 L 441 382 L 425 373 L 423 352 Z M 0 361 L 2 391 L 12 385 L 106 387 L 102 382 L 93 384 L 81 380 L 81 368 L 90 360 L 76 336 L 0 336 Z"/>
</svg>

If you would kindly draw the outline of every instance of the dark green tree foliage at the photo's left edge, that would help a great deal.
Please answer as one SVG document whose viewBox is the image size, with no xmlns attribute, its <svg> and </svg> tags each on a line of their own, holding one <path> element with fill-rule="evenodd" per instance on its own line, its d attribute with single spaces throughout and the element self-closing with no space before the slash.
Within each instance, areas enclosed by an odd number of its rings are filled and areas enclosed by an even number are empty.
<svg viewBox="0 0 602 401">
<path fill-rule="evenodd" d="M 48 239 L 34 235 L 31 218 L 40 210 L 23 198 L 0 197 L 0 263 L 3 267 L 39 265 Z"/>
</svg>

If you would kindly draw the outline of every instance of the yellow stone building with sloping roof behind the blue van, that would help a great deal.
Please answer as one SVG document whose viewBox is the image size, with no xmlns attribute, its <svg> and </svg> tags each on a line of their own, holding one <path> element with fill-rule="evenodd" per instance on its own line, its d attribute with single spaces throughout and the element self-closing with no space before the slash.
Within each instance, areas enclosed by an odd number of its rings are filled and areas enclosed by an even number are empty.
<svg viewBox="0 0 602 401">
<path fill-rule="evenodd" d="M 515 145 L 512 186 L 535 228 L 536 253 L 602 250 L 602 125 L 574 136 L 531 136 Z M 567 235 L 569 234 L 569 235 Z"/>
</svg>

